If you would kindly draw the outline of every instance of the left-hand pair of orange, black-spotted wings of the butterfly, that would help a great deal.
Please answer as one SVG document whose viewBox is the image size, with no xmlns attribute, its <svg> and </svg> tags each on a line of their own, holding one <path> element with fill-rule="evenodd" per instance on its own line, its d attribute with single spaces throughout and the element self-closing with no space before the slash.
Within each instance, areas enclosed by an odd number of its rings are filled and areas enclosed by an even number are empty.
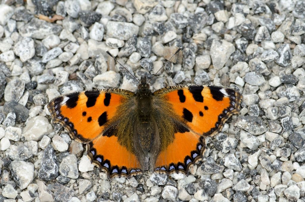
<svg viewBox="0 0 305 202">
<path fill-rule="evenodd" d="M 133 175 L 140 172 L 133 142 L 118 128 L 128 125 L 125 122 L 134 96 L 122 89 L 74 92 L 54 98 L 48 109 L 54 123 L 61 124 L 72 138 L 87 143 L 88 156 L 109 176 Z"/>
</svg>

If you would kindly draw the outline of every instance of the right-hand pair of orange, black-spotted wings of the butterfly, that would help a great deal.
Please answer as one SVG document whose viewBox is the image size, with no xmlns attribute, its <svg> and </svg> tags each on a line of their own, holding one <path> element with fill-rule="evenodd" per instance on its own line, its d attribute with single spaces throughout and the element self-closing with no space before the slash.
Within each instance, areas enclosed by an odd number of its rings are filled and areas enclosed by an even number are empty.
<svg viewBox="0 0 305 202">
<path fill-rule="evenodd" d="M 163 145 L 155 168 L 169 172 L 187 172 L 199 161 L 205 150 L 204 137 L 221 130 L 225 121 L 239 112 L 241 102 L 239 92 L 217 86 L 171 86 L 157 90 L 154 96 L 156 103 L 161 103 L 161 119 L 174 120 L 171 122 L 176 128 L 158 123 Z"/>
</svg>

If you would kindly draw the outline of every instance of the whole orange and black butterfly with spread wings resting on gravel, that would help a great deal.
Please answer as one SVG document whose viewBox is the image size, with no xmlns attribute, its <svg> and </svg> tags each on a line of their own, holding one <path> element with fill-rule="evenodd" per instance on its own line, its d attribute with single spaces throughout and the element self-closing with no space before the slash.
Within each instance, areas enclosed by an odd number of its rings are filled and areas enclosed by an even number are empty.
<svg viewBox="0 0 305 202">
<path fill-rule="evenodd" d="M 136 92 L 73 92 L 52 99 L 48 110 L 112 178 L 144 170 L 187 174 L 202 159 L 205 137 L 221 130 L 240 103 L 231 88 L 181 85 L 152 92 L 142 77 Z"/>
</svg>

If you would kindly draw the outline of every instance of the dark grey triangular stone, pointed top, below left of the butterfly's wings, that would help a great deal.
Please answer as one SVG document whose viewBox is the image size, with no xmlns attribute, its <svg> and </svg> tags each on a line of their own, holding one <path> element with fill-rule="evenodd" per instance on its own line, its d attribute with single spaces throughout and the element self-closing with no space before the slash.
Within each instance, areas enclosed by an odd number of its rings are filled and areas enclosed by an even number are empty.
<svg viewBox="0 0 305 202">
<path fill-rule="evenodd" d="M 38 178 L 48 181 L 55 179 L 58 175 L 59 163 L 53 147 L 48 145 L 43 152 L 40 168 L 38 170 Z"/>
</svg>

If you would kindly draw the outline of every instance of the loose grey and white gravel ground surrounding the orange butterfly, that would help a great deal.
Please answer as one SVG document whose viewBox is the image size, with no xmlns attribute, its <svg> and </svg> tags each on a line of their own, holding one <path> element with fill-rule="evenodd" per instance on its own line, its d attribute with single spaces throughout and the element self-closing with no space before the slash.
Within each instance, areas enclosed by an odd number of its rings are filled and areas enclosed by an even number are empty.
<svg viewBox="0 0 305 202">
<path fill-rule="evenodd" d="M 0 5 L 0 201 L 305 201 L 305 1 L 7 1 Z M 58 15 L 48 22 L 39 18 Z M 222 85 L 239 115 L 188 176 L 109 180 L 50 121 L 61 94 Z"/>
</svg>

